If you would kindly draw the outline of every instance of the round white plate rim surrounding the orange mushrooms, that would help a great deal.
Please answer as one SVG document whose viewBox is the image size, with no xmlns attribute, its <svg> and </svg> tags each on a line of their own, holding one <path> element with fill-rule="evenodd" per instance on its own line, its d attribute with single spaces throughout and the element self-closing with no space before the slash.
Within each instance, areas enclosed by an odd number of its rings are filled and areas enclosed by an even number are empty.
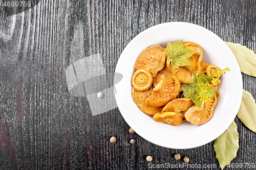
<svg viewBox="0 0 256 170">
<path fill-rule="evenodd" d="M 203 125 L 189 122 L 179 126 L 157 123 L 152 116 L 142 113 L 132 98 L 134 63 L 145 48 L 167 42 L 192 41 L 203 48 L 203 60 L 230 71 L 221 76 L 220 99 L 214 115 Z M 186 22 L 168 22 L 151 27 L 137 35 L 123 50 L 115 72 L 123 75 L 115 85 L 115 98 L 126 123 L 144 139 L 166 148 L 188 149 L 199 147 L 220 136 L 232 123 L 239 110 L 243 83 L 238 62 L 226 43 L 209 30 Z"/>
</svg>

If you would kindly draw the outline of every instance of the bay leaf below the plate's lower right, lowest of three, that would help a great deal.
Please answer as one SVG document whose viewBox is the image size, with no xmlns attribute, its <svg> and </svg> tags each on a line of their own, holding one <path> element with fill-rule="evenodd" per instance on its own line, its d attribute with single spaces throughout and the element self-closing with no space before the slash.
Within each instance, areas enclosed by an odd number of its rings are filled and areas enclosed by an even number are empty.
<svg viewBox="0 0 256 170">
<path fill-rule="evenodd" d="M 227 130 L 214 141 L 214 151 L 221 169 L 236 158 L 239 149 L 237 124 L 233 121 Z"/>
</svg>

